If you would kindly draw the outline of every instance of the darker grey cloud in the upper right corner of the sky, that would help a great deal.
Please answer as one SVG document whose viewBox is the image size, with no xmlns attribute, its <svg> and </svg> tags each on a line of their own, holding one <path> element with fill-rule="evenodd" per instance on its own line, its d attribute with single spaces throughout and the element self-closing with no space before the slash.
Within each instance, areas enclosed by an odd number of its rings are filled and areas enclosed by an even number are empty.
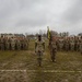
<svg viewBox="0 0 82 82">
<path fill-rule="evenodd" d="M 82 0 L 75 0 L 73 7 L 70 7 L 65 17 L 71 23 L 79 23 L 79 21 L 82 21 Z"/>
</svg>

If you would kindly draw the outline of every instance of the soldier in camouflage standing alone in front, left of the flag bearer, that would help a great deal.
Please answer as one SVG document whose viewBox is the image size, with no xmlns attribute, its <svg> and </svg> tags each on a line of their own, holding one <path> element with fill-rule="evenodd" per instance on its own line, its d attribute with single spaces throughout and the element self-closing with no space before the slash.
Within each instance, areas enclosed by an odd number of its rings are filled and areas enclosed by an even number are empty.
<svg viewBox="0 0 82 82">
<path fill-rule="evenodd" d="M 42 35 L 38 35 L 38 39 L 35 42 L 35 52 L 37 55 L 37 61 L 39 67 L 42 66 L 42 57 L 45 51 L 45 42 L 42 39 Z"/>
</svg>

